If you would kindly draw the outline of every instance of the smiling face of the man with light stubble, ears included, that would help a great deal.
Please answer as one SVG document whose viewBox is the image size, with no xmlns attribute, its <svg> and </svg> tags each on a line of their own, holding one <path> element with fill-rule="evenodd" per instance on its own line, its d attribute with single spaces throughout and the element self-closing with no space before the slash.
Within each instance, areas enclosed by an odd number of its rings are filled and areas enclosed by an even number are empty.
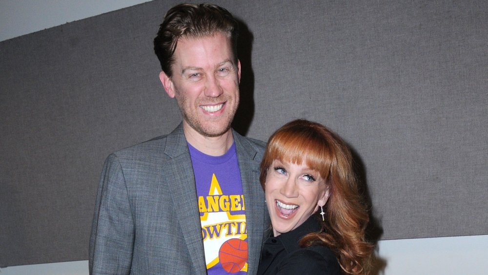
<svg viewBox="0 0 488 275">
<path fill-rule="evenodd" d="M 230 40 L 223 33 L 178 41 L 172 77 L 160 73 L 166 93 L 176 97 L 183 127 L 206 137 L 230 129 L 239 105 L 241 63 L 234 62 Z"/>
</svg>

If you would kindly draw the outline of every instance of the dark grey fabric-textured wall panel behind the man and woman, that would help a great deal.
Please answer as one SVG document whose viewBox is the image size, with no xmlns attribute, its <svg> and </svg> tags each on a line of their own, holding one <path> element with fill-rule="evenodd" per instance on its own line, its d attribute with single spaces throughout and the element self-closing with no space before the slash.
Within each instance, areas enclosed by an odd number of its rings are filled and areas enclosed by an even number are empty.
<svg viewBox="0 0 488 275">
<path fill-rule="evenodd" d="M 0 266 L 87 259 L 111 152 L 181 120 L 154 1 L 0 42 Z M 488 234 L 486 1 L 216 1 L 242 22 L 235 127 L 338 132 L 382 239 Z"/>
</svg>

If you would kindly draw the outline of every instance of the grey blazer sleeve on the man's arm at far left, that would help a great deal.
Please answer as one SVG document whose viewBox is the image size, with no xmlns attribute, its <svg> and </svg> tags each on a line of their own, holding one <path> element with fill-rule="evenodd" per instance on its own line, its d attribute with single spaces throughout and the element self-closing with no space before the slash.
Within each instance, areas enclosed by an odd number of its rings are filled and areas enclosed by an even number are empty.
<svg viewBox="0 0 488 275">
<path fill-rule="evenodd" d="M 129 274 L 134 222 L 122 166 L 108 156 L 99 183 L 89 245 L 90 274 Z"/>
</svg>

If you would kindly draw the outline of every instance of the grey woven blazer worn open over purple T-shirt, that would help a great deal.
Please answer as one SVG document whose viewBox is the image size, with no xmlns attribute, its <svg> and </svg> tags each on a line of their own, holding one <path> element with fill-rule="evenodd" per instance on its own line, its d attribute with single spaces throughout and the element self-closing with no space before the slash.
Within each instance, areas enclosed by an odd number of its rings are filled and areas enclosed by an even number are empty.
<svg viewBox="0 0 488 275">
<path fill-rule="evenodd" d="M 243 183 L 248 274 L 256 274 L 269 217 L 259 184 L 264 142 L 233 131 Z M 172 133 L 108 156 L 95 204 L 90 274 L 206 274 L 190 155 Z"/>
</svg>

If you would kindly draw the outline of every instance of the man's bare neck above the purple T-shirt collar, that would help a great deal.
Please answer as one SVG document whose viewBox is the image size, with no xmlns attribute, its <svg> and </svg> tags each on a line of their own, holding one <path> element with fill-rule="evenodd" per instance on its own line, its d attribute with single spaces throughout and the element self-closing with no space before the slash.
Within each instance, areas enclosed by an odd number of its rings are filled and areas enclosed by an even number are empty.
<svg viewBox="0 0 488 275">
<path fill-rule="evenodd" d="M 183 123 L 183 132 L 186 141 L 204 154 L 211 156 L 221 156 L 232 146 L 234 137 L 232 129 L 217 137 L 203 136 L 189 125 Z"/>
</svg>

